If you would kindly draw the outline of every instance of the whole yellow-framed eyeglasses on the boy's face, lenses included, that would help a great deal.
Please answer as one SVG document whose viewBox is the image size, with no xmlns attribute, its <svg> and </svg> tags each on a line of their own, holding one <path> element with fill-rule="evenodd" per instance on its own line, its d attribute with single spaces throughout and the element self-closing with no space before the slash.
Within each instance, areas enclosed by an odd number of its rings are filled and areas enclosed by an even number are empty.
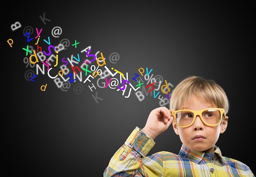
<svg viewBox="0 0 256 177">
<path fill-rule="evenodd" d="M 172 112 L 172 116 L 176 125 L 183 128 L 191 126 L 197 116 L 205 125 L 216 126 L 221 123 L 222 117 L 225 117 L 225 110 L 223 108 L 207 108 L 200 111 L 176 110 Z"/>
</svg>

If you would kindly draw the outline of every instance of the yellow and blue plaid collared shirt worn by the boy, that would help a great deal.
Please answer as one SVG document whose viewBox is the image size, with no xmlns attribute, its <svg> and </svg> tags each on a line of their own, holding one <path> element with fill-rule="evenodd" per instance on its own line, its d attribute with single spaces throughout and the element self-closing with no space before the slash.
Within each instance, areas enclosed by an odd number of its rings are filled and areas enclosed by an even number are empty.
<svg viewBox="0 0 256 177">
<path fill-rule="evenodd" d="M 155 142 L 136 127 L 110 159 L 104 177 L 255 177 L 240 161 L 214 153 L 192 151 L 182 145 L 179 155 L 157 152 L 146 156 Z"/>
</svg>

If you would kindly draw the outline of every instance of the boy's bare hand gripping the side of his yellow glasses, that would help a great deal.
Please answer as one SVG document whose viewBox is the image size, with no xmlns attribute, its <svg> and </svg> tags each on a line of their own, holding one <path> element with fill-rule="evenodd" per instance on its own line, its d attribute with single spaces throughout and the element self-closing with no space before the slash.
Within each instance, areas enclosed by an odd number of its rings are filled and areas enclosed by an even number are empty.
<svg viewBox="0 0 256 177">
<path fill-rule="evenodd" d="M 155 139 L 159 134 L 167 130 L 173 122 L 171 112 L 166 107 L 159 107 L 152 110 L 144 128 L 141 129 L 147 136 Z"/>
</svg>

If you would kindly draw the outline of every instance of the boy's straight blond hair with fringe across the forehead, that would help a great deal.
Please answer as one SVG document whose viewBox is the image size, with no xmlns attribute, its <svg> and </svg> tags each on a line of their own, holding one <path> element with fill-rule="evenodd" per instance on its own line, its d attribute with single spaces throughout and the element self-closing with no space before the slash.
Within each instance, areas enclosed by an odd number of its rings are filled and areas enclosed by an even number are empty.
<svg viewBox="0 0 256 177">
<path fill-rule="evenodd" d="M 191 96 L 213 103 L 217 108 L 223 108 L 225 114 L 229 111 L 229 100 L 225 91 L 213 80 L 200 76 L 188 76 L 175 87 L 171 93 L 170 109 L 179 110 Z"/>
</svg>

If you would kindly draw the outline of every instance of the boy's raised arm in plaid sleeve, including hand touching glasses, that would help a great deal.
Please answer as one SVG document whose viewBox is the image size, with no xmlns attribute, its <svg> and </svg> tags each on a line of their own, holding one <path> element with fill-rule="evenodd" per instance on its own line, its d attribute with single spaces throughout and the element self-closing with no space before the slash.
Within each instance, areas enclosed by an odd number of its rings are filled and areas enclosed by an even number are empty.
<svg viewBox="0 0 256 177">
<path fill-rule="evenodd" d="M 153 148 L 153 139 L 167 130 L 173 121 L 172 110 L 159 107 L 152 110 L 142 130 L 138 127 L 132 131 L 105 169 L 104 177 L 149 176 L 159 177 L 162 173 L 163 161 L 159 157 L 146 157 Z M 153 158 L 153 159 L 150 159 Z M 143 161 L 144 160 L 144 161 Z"/>
</svg>

